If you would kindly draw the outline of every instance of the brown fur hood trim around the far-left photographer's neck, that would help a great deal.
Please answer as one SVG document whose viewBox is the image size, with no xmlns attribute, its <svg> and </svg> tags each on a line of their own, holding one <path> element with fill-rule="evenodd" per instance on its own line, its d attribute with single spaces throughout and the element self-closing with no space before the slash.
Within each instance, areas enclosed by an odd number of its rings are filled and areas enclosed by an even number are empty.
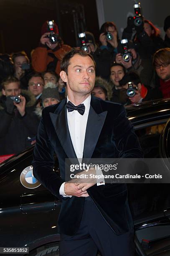
<svg viewBox="0 0 170 256">
<path fill-rule="evenodd" d="M 26 100 L 26 105 L 25 107 L 33 107 L 36 104 L 36 98 L 35 96 L 27 90 L 21 90 L 20 94 L 25 97 Z M 3 102 L 5 102 L 5 96 L 2 94 L 2 91 L 0 92 L 0 110 L 4 109 L 4 104 Z"/>
</svg>

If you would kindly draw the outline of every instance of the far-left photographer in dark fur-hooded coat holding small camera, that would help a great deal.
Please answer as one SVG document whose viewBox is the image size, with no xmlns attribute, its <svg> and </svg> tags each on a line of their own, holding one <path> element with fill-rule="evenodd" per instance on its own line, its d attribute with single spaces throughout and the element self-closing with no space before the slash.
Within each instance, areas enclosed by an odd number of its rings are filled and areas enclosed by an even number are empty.
<svg viewBox="0 0 170 256">
<path fill-rule="evenodd" d="M 17 154 L 29 147 L 28 137 L 36 136 L 39 120 L 33 113 L 35 99 L 20 90 L 20 81 L 8 77 L 0 95 L 0 155 Z"/>
</svg>

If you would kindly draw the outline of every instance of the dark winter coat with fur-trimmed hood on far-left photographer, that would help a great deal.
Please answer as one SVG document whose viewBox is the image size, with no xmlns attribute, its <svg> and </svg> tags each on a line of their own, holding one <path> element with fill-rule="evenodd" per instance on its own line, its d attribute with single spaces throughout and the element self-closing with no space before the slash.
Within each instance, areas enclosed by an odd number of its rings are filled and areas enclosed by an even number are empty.
<svg viewBox="0 0 170 256">
<path fill-rule="evenodd" d="M 7 113 L 4 95 L 0 95 L 0 155 L 17 154 L 31 146 L 28 137 L 36 136 L 39 120 L 33 112 L 34 95 L 21 90 L 26 99 L 25 115 L 21 116 L 17 108 L 12 114 Z"/>
</svg>

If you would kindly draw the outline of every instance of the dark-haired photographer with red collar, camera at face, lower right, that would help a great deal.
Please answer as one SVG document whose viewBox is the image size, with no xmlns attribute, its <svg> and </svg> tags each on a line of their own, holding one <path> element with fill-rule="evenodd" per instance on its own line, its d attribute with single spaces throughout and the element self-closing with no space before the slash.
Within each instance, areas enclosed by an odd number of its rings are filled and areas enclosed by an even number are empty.
<svg viewBox="0 0 170 256">
<path fill-rule="evenodd" d="M 162 98 L 162 93 L 159 89 L 153 89 L 142 84 L 139 75 L 135 72 L 125 74 L 119 81 L 119 84 L 124 88 L 122 93 L 124 93 L 124 95 L 126 94 L 126 102 L 124 102 L 124 105 Z"/>
</svg>

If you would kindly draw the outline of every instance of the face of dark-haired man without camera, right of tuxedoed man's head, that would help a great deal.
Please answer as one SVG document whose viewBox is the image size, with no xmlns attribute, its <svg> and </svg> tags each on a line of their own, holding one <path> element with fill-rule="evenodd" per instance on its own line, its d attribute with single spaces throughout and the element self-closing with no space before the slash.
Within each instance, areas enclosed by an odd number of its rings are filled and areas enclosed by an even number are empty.
<svg viewBox="0 0 170 256">
<path fill-rule="evenodd" d="M 114 86 L 119 87 L 119 81 L 124 77 L 124 71 L 121 66 L 114 66 L 110 69 L 110 80 L 114 84 Z"/>
</svg>

